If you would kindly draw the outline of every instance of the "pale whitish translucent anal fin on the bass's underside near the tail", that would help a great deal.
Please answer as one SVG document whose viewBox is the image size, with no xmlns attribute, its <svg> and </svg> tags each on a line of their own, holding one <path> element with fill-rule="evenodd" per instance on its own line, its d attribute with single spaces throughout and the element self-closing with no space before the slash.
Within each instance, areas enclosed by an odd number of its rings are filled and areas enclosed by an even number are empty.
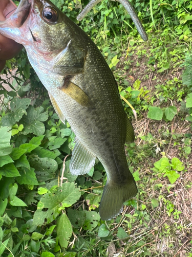
<svg viewBox="0 0 192 257">
<path fill-rule="evenodd" d="M 88 173 L 95 164 L 96 156 L 77 140 L 72 151 L 70 172 L 72 175 L 83 175 Z"/>
</svg>

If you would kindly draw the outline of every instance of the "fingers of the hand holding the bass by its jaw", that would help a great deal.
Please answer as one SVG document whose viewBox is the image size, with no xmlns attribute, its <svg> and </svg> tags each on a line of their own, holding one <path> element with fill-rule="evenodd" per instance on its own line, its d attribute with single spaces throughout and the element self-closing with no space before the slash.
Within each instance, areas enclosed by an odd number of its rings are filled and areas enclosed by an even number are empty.
<svg viewBox="0 0 192 257">
<path fill-rule="evenodd" d="M 11 0 L 1 0 L 0 21 L 5 21 L 15 8 L 16 5 Z M 22 48 L 22 45 L 0 34 L 0 72 L 5 67 L 6 60 L 13 58 Z"/>
</svg>

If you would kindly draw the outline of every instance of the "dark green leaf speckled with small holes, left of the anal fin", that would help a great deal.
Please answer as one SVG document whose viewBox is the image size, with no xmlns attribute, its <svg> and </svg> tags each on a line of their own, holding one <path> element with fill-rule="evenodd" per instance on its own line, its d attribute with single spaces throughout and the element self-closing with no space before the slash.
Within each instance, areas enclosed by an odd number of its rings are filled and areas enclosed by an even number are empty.
<svg viewBox="0 0 192 257">
<path fill-rule="evenodd" d="M 51 158 L 33 158 L 30 159 L 30 165 L 35 169 L 38 181 L 47 181 L 54 178 L 58 169 L 58 164 Z"/>
</svg>

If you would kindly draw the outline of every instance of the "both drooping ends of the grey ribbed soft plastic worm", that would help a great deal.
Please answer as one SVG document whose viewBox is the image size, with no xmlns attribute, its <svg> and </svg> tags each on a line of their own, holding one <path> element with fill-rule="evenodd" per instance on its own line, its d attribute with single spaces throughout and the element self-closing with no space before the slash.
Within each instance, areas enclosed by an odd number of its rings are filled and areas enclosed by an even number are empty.
<svg viewBox="0 0 192 257">
<path fill-rule="evenodd" d="M 117 2 L 119 2 L 121 5 L 124 6 L 124 8 L 126 9 L 126 11 L 130 14 L 131 19 L 133 20 L 139 34 L 141 35 L 141 38 L 144 41 L 148 40 L 147 34 L 143 28 L 142 23 L 139 20 L 139 17 L 137 15 L 137 13 L 135 12 L 134 8 L 132 7 L 132 5 L 129 3 L 129 1 L 127 0 L 116 0 Z M 87 13 L 99 2 L 101 2 L 101 0 L 91 0 L 89 2 L 89 4 L 79 13 L 79 15 L 77 16 L 77 20 L 81 21 L 84 16 L 87 15 Z"/>
</svg>

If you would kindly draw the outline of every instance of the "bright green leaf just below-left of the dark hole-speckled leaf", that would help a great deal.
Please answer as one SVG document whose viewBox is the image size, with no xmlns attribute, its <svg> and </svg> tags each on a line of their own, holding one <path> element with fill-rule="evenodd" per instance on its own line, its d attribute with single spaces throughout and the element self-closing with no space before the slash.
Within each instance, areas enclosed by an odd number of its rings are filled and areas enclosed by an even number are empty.
<svg viewBox="0 0 192 257">
<path fill-rule="evenodd" d="M 16 180 L 20 185 L 38 185 L 36 174 L 33 168 L 30 167 L 30 169 L 28 169 L 24 167 L 19 170 L 19 174 L 20 177 L 16 177 Z"/>
</svg>

